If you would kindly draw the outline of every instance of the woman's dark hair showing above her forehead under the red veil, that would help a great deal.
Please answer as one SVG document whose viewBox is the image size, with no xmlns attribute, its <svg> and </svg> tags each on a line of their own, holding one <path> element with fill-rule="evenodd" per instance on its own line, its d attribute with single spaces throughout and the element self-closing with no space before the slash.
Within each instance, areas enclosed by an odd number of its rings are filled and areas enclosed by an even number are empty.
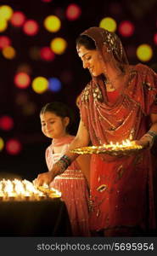
<svg viewBox="0 0 157 256">
<path fill-rule="evenodd" d="M 83 45 L 86 49 L 96 49 L 93 39 L 86 35 L 80 35 L 76 38 L 76 45 Z"/>
</svg>

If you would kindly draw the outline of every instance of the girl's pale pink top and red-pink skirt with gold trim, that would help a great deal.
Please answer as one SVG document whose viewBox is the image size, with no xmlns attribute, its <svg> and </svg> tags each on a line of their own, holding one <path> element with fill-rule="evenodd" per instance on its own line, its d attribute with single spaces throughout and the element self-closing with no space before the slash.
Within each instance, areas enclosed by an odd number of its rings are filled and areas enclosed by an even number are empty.
<svg viewBox="0 0 157 256">
<path fill-rule="evenodd" d="M 73 139 L 73 136 L 53 139 L 52 144 L 46 150 L 48 170 L 51 170 L 53 164 L 64 155 Z M 62 148 L 59 154 L 53 152 L 53 147 L 57 146 Z M 63 174 L 53 179 L 50 186 L 59 189 L 62 193 L 62 199 L 69 212 L 73 236 L 90 236 L 87 180 L 78 163 L 74 161 Z"/>
</svg>

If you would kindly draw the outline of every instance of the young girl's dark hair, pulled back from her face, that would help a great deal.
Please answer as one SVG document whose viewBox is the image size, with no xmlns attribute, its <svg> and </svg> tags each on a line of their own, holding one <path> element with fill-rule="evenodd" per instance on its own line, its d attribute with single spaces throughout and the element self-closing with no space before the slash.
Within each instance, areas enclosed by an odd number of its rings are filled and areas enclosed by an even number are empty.
<svg viewBox="0 0 157 256">
<path fill-rule="evenodd" d="M 66 131 L 70 132 L 72 130 L 72 125 L 74 124 L 75 116 L 71 108 L 69 108 L 63 102 L 50 102 L 42 107 L 40 115 L 46 112 L 55 113 L 61 118 L 69 117 L 70 123 L 66 127 Z"/>
</svg>

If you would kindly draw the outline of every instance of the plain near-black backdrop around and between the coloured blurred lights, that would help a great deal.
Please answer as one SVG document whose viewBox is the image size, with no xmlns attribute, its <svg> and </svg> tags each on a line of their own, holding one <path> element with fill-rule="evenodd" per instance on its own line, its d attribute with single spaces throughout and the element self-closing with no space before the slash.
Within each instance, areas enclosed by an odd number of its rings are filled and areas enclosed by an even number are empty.
<svg viewBox="0 0 157 256">
<path fill-rule="evenodd" d="M 81 16 L 78 20 L 67 20 L 65 9 L 70 3 L 77 3 L 81 7 Z M 42 0 L 12 0 L 2 1 L 0 5 L 8 4 L 15 10 L 22 11 L 27 19 L 36 20 L 40 26 L 36 36 L 29 37 L 21 28 L 9 25 L 7 30 L 0 35 L 7 35 L 12 39 L 12 44 L 17 51 L 13 60 L 7 60 L 0 52 L 0 116 L 4 114 L 14 119 L 14 128 L 11 131 L 0 130 L 0 137 L 4 143 L 15 137 L 22 143 L 22 151 L 18 155 L 10 155 L 5 147 L 0 151 L 1 177 L 11 174 L 20 175 L 22 178 L 33 179 L 40 172 L 46 172 L 45 148 L 51 143 L 42 135 L 39 112 L 47 102 L 61 101 L 68 103 L 76 113 L 76 124 L 79 122 L 79 113 L 76 108 L 76 97 L 80 94 L 87 81 L 90 79 L 86 70 L 81 67 L 81 61 L 76 55 L 76 38 L 90 26 L 98 26 L 100 20 L 109 16 L 116 20 L 117 26 L 122 20 L 130 20 L 135 26 L 132 37 L 122 38 L 129 61 L 132 64 L 139 62 L 136 48 L 139 44 L 150 44 L 154 55 L 145 64 L 157 71 L 156 46 L 154 33 L 157 32 L 157 1 L 156 0 L 52 0 L 43 3 Z M 48 15 L 58 15 L 62 22 L 59 32 L 50 33 L 42 26 L 43 20 Z M 66 39 L 68 47 L 63 55 L 58 55 L 54 61 L 33 60 L 29 55 L 32 47 L 48 46 L 52 38 L 59 36 Z M 14 86 L 14 74 L 20 65 L 31 67 L 31 79 L 36 76 L 46 78 L 58 77 L 62 82 L 62 90 L 58 93 L 47 91 L 42 95 L 36 94 L 31 87 L 21 90 Z M 22 105 L 17 104 L 17 97 L 23 96 L 27 103 L 33 103 L 34 113 L 25 114 Z"/>
</svg>

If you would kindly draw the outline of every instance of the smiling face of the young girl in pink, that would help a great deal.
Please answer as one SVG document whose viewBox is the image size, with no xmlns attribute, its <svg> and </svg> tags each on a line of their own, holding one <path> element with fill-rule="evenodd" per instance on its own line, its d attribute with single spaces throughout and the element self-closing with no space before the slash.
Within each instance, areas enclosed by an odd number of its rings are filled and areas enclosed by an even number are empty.
<svg viewBox="0 0 157 256">
<path fill-rule="evenodd" d="M 42 132 L 46 137 L 59 138 L 67 134 L 66 127 L 70 121 L 68 117 L 61 118 L 55 113 L 45 112 L 40 115 L 40 118 Z"/>
</svg>

